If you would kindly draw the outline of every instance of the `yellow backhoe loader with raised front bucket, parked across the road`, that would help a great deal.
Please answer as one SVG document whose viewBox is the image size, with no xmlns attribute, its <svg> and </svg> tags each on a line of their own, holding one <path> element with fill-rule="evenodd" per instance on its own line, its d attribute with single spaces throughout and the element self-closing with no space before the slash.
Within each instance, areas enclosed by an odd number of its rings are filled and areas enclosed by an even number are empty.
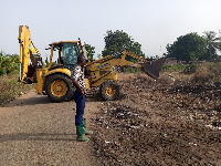
<svg viewBox="0 0 221 166">
<path fill-rule="evenodd" d="M 20 81 L 27 84 L 36 83 L 36 93 L 46 94 L 52 102 L 63 102 L 71 98 L 74 91 L 71 70 L 76 63 L 77 55 L 87 58 L 87 52 L 81 40 L 49 44 L 48 49 L 51 50 L 49 66 L 43 63 L 41 54 L 32 42 L 29 27 L 19 27 L 19 43 Z M 55 51 L 59 54 L 57 64 L 52 65 Z M 138 60 L 139 63 L 130 62 L 131 58 Z M 86 87 L 87 90 L 99 87 L 104 100 L 115 100 L 119 94 L 119 86 L 114 66 L 139 68 L 149 76 L 158 79 L 164 63 L 165 58 L 149 63 L 147 60 L 123 50 L 119 53 L 86 63 L 84 68 Z"/>
</svg>

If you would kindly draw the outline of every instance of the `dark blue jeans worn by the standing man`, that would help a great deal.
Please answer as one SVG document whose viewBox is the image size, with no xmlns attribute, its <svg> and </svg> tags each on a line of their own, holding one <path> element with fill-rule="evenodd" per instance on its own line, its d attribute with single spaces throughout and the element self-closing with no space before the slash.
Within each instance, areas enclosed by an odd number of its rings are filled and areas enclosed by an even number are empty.
<svg viewBox="0 0 221 166">
<path fill-rule="evenodd" d="M 73 93 L 73 97 L 76 103 L 75 125 L 80 125 L 84 120 L 84 107 L 85 107 L 86 95 L 82 94 L 78 91 L 75 91 Z"/>
</svg>

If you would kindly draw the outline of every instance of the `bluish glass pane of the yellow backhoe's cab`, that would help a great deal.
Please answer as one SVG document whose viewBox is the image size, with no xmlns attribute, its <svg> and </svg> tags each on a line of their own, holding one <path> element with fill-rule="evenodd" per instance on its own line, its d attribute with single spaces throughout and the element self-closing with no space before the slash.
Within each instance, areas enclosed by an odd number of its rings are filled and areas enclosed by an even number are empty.
<svg viewBox="0 0 221 166">
<path fill-rule="evenodd" d="M 64 66 L 72 70 L 80 55 L 77 43 L 63 43 Z"/>
</svg>

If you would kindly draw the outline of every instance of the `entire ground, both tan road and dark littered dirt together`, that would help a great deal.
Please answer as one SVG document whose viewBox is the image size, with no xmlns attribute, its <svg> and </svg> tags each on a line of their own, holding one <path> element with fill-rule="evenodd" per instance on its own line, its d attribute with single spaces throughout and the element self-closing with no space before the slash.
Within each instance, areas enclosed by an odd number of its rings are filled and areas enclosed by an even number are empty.
<svg viewBox="0 0 221 166">
<path fill-rule="evenodd" d="M 0 165 L 221 165 L 220 85 L 118 74 L 120 95 L 86 101 L 88 143 L 76 142 L 73 102 L 33 91 L 0 107 Z"/>
</svg>

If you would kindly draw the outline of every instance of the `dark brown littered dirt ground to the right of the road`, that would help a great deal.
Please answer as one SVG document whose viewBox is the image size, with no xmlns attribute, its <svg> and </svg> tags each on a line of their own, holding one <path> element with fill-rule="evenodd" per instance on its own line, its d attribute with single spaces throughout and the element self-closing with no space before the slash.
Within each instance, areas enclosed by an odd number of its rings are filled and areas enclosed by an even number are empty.
<svg viewBox="0 0 221 166">
<path fill-rule="evenodd" d="M 97 165 L 221 165 L 221 87 L 119 74 L 120 96 L 94 117 Z"/>
</svg>

